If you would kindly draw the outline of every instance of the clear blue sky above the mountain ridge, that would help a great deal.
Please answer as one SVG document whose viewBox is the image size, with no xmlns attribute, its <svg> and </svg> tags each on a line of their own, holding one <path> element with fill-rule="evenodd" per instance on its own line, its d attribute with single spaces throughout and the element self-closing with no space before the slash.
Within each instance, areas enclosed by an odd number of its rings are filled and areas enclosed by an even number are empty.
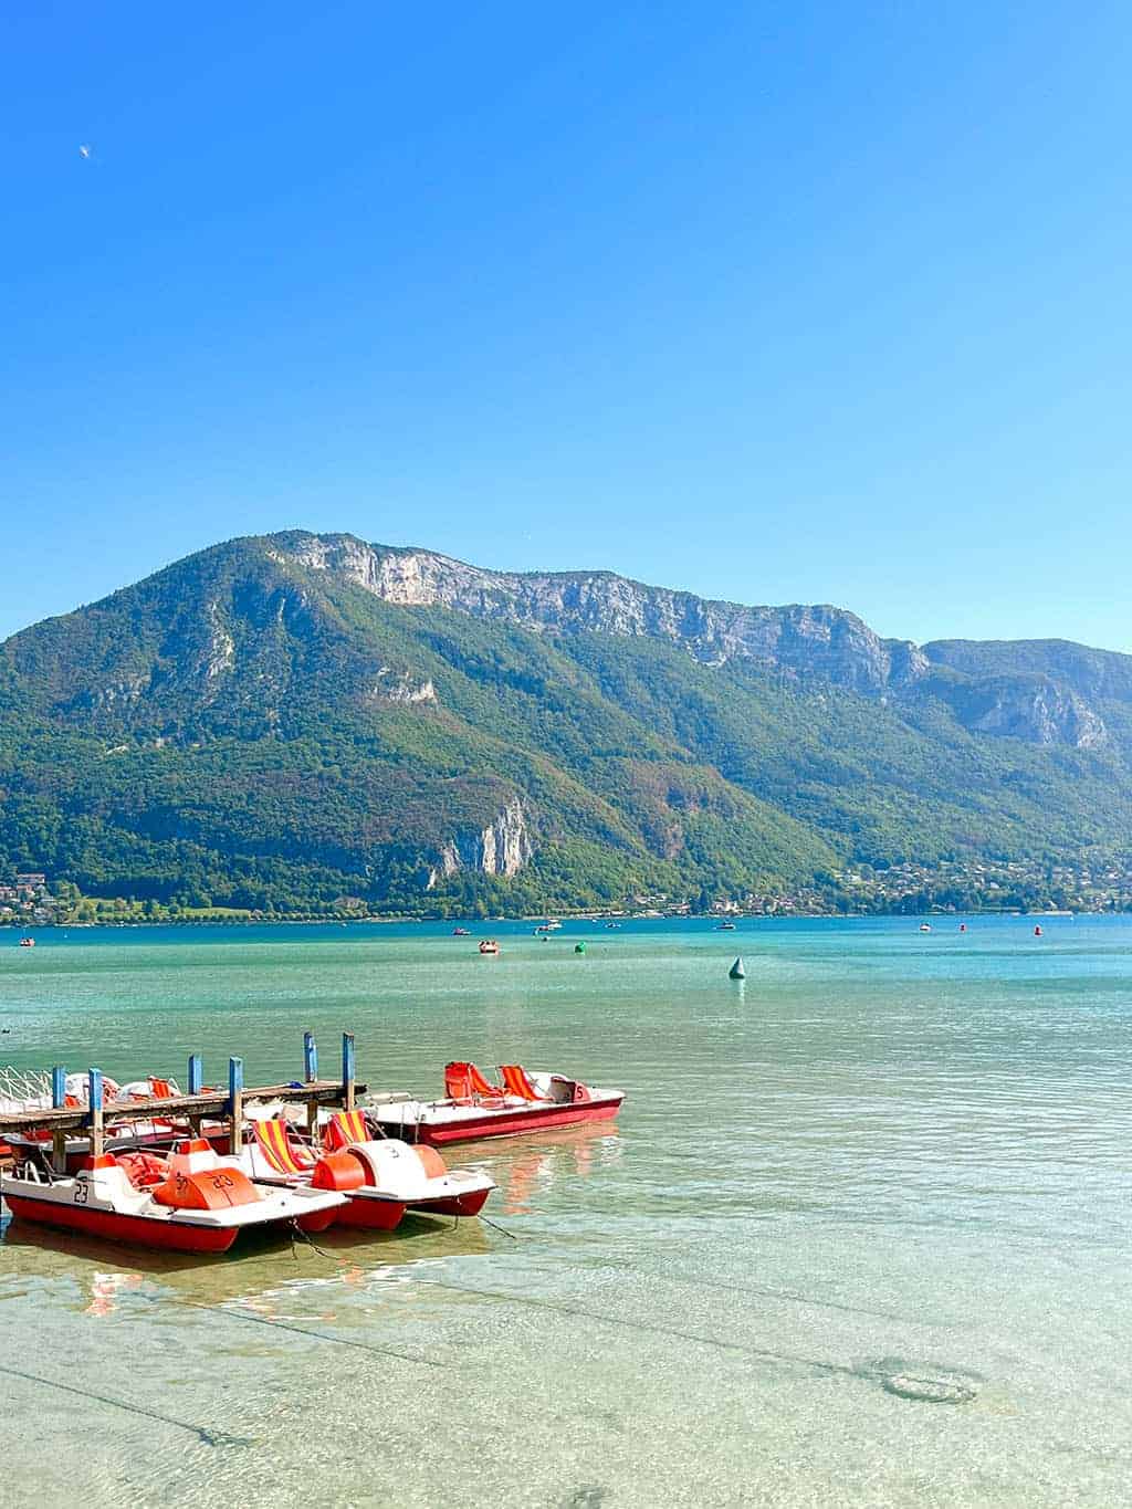
<svg viewBox="0 0 1132 1509">
<path fill-rule="evenodd" d="M 1132 650 L 1129 77 L 1118 3 L 9 6 L 0 634 L 308 527 Z"/>
</svg>

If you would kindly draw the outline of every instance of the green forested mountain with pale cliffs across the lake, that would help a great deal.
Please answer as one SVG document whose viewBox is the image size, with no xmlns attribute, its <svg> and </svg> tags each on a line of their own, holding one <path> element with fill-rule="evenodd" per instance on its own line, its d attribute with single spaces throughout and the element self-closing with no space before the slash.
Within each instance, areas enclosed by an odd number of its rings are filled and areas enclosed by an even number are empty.
<svg viewBox="0 0 1132 1509">
<path fill-rule="evenodd" d="M 596 907 L 1130 821 L 1132 656 L 1058 640 L 290 531 L 0 646 L 0 863 L 100 895 Z"/>
</svg>

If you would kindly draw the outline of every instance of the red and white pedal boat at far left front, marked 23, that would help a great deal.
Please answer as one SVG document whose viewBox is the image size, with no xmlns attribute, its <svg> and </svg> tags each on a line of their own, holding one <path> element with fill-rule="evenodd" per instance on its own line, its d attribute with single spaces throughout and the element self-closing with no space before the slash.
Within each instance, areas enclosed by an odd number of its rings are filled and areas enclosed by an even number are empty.
<svg viewBox="0 0 1132 1509">
<path fill-rule="evenodd" d="M 240 1231 L 297 1225 L 323 1231 L 346 1204 L 332 1189 L 263 1189 L 204 1138 L 171 1157 L 103 1153 L 56 1177 L 27 1162 L 0 1174 L 0 1195 L 23 1221 L 175 1252 L 226 1252 Z"/>
</svg>

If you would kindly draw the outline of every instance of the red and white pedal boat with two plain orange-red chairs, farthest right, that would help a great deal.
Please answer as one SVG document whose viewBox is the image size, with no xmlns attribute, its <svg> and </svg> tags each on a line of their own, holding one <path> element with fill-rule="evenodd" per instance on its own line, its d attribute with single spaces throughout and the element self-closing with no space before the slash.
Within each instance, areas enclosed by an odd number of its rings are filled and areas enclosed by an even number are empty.
<svg viewBox="0 0 1132 1509">
<path fill-rule="evenodd" d="M 503 1064 L 500 1074 L 503 1085 L 492 1085 L 474 1064 L 447 1064 L 444 1100 L 373 1096 L 365 1102 L 365 1115 L 389 1138 L 444 1145 L 608 1121 L 625 1100 L 623 1089 L 596 1089 L 564 1074 L 528 1073 L 519 1064 Z"/>
</svg>

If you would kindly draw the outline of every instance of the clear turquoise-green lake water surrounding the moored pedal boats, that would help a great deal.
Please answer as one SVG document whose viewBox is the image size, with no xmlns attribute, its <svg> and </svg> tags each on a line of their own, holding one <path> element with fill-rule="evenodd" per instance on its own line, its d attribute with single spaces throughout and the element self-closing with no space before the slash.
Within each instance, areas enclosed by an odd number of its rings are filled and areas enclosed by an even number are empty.
<svg viewBox="0 0 1132 1509">
<path fill-rule="evenodd" d="M 469 1056 L 629 1093 L 454 1150 L 513 1236 L 193 1265 L 9 1225 L 0 1501 L 1127 1501 L 1132 919 L 1043 928 L 0 934 L 18 1065 L 251 1083 L 349 1028 L 374 1086 Z M 904 1397 L 934 1384 L 964 1402 Z"/>
</svg>

